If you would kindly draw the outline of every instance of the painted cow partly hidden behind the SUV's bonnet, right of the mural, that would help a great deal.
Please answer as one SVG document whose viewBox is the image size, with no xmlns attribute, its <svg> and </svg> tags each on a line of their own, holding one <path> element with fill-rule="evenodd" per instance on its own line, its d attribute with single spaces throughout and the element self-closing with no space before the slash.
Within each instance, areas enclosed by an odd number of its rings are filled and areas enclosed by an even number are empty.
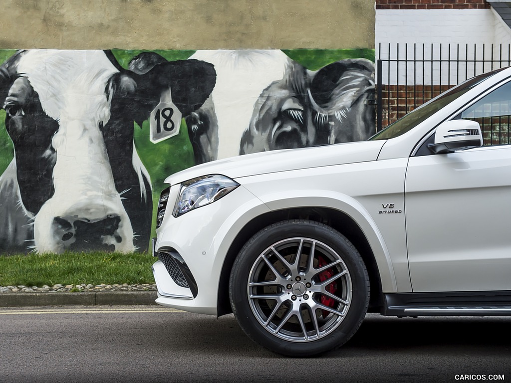
<svg viewBox="0 0 511 383">
<path fill-rule="evenodd" d="M 280 50 L 197 51 L 192 58 L 213 63 L 217 73 L 210 99 L 192 113 L 210 143 L 208 159 L 376 133 L 375 65 L 367 59 L 312 71 Z"/>
</svg>

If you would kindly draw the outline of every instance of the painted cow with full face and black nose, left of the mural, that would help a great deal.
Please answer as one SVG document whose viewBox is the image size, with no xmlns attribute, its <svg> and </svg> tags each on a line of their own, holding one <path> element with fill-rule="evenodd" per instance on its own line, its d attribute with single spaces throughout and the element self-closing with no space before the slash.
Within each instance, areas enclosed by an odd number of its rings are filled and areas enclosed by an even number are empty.
<svg viewBox="0 0 511 383">
<path fill-rule="evenodd" d="M 142 60 L 143 61 L 143 60 Z M 213 65 L 125 70 L 109 51 L 19 51 L 0 67 L 14 159 L 0 177 L 0 250 L 145 250 L 151 182 L 133 145 L 171 89 L 183 116 L 215 86 Z"/>
</svg>

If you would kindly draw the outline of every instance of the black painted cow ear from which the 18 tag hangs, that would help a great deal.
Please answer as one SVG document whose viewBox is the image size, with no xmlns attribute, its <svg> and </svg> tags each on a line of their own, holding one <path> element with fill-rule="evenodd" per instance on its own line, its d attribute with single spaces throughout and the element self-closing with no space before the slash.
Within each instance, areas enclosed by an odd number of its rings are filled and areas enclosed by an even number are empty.
<svg viewBox="0 0 511 383">
<path fill-rule="evenodd" d="M 136 83 L 135 122 L 139 125 L 149 118 L 161 94 L 169 88 L 172 102 L 184 117 L 201 107 L 216 83 L 213 64 L 194 59 L 156 64 L 146 73 L 132 76 Z"/>
</svg>

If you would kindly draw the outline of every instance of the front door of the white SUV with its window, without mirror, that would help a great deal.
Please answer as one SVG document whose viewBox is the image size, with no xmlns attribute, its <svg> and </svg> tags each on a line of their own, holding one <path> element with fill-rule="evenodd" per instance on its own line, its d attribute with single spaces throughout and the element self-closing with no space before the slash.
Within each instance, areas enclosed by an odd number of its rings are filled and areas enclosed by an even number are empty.
<svg viewBox="0 0 511 383">
<path fill-rule="evenodd" d="M 477 121 L 484 146 L 410 157 L 405 220 L 414 292 L 511 290 L 511 82 L 454 118 Z"/>
</svg>

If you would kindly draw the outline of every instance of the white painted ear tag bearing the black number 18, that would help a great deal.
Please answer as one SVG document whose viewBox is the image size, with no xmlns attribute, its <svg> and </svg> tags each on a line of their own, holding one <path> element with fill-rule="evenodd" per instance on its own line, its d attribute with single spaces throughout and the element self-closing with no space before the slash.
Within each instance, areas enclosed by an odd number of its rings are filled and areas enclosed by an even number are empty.
<svg viewBox="0 0 511 383">
<path fill-rule="evenodd" d="M 156 143 L 179 133 L 181 112 L 172 102 L 170 88 L 161 93 L 160 102 L 149 117 L 151 142 Z"/>
</svg>

